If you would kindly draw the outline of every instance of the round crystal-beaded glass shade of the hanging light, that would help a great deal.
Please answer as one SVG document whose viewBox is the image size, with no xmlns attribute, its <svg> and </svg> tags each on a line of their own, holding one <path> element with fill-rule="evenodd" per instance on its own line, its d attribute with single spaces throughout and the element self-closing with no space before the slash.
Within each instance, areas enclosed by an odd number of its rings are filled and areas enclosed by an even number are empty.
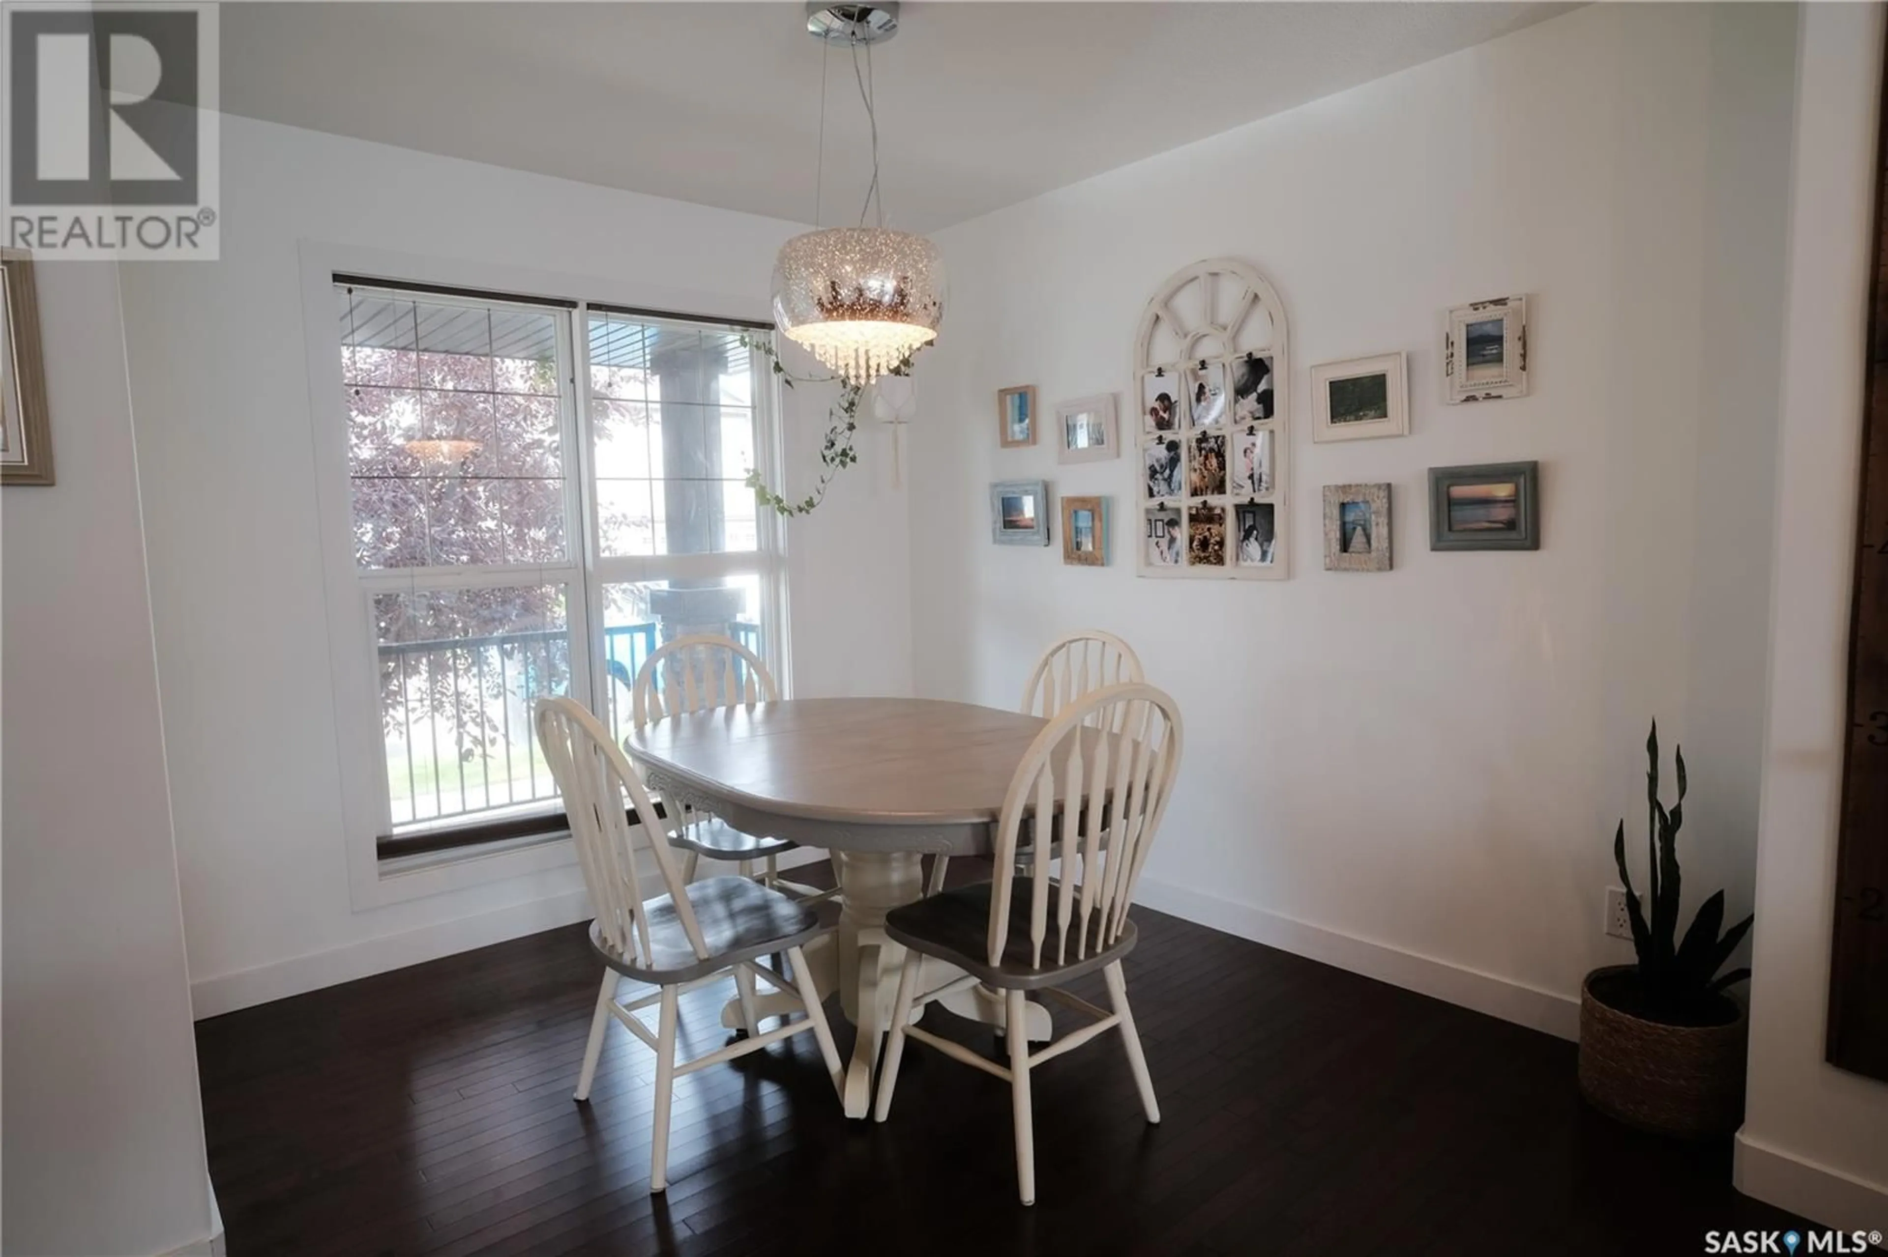
<svg viewBox="0 0 1888 1257">
<path fill-rule="evenodd" d="M 848 383 L 867 385 L 944 323 L 944 257 L 923 236 L 834 226 L 795 236 L 774 262 L 774 323 Z"/>
</svg>

